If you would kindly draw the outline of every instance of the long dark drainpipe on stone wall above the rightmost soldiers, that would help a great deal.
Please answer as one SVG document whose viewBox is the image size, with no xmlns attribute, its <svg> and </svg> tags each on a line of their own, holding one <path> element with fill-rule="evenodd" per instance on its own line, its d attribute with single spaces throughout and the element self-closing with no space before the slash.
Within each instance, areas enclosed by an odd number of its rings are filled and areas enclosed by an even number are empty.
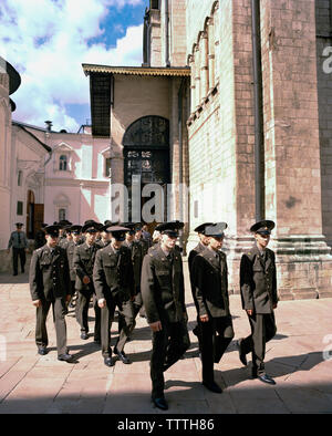
<svg viewBox="0 0 332 436">
<path fill-rule="evenodd" d="M 260 0 L 251 0 L 255 107 L 255 205 L 256 221 L 264 218 L 264 136 L 260 41 Z"/>
</svg>

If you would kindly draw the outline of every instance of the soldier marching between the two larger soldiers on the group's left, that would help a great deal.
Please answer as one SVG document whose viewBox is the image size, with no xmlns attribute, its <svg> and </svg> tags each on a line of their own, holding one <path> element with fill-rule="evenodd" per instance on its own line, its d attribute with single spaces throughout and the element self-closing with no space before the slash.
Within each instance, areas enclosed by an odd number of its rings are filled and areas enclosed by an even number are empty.
<svg viewBox="0 0 332 436">
<path fill-rule="evenodd" d="M 97 304 L 95 290 L 93 286 L 93 266 L 97 247 L 95 246 L 96 224 L 86 224 L 82 227 L 85 236 L 85 242 L 75 247 L 73 256 L 73 267 L 76 273 L 75 290 L 77 292 L 76 300 L 76 320 L 81 325 L 81 339 L 89 338 L 87 312 L 91 297 L 93 297 L 93 309 L 95 315 L 94 322 L 94 342 L 101 341 L 101 309 Z"/>
</svg>

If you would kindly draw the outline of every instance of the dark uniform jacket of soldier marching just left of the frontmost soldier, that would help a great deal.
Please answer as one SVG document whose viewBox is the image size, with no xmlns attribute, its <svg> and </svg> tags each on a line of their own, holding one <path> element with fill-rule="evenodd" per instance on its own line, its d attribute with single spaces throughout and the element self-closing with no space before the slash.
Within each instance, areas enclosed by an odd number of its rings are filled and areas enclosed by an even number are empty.
<svg viewBox="0 0 332 436">
<path fill-rule="evenodd" d="M 95 257 L 93 283 L 97 299 L 110 294 L 127 301 L 135 295 L 131 250 L 121 247 L 116 255 L 112 245 L 102 248 Z"/>
</svg>

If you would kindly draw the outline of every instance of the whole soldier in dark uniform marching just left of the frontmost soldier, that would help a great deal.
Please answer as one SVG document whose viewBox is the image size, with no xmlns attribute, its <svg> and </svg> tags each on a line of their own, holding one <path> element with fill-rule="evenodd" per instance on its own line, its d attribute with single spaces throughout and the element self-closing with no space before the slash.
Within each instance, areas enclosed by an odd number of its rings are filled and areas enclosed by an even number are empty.
<svg viewBox="0 0 332 436">
<path fill-rule="evenodd" d="M 114 353 L 123 363 L 131 363 L 124 352 L 124 345 L 134 328 L 132 301 L 135 295 L 131 250 L 123 247 L 127 230 L 128 228 L 122 226 L 108 226 L 111 243 L 97 251 L 93 269 L 93 282 L 102 312 L 102 355 L 106 366 L 114 365 L 111 326 L 116 308 L 123 323 Z"/>
</svg>

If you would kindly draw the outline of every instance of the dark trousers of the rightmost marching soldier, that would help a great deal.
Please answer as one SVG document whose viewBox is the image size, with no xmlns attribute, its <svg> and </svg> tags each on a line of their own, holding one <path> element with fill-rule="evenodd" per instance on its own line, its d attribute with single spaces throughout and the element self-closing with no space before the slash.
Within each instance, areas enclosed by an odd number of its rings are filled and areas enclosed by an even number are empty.
<svg viewBox="0 0 332 436">
<path fill-rule="evenodd" d="M 266 343 L 270 341 L 276 332 L 274 313 L 255 313 L 248 315 L 251 334 L 242 340 L 242 352 L 252 353 L 252 373 L 261 375 L 264 373 Z"/>
</svg>

